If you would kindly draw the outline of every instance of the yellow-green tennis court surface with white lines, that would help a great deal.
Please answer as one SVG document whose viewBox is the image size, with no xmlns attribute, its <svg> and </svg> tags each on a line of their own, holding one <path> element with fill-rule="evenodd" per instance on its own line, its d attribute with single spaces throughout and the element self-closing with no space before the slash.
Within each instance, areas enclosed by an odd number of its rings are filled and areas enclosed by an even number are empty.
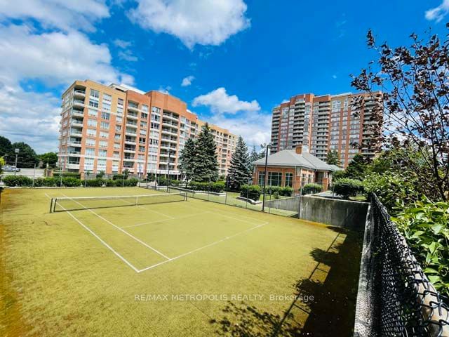
<svg viewBox="0 0 449 337">
<path fill-rule="evenodd" d="M 358 234 L 192 198 L 49 213 L 136 194 L 161 192 L 2 193 L 0 336 L 351 334 Z"/>
</svg>

